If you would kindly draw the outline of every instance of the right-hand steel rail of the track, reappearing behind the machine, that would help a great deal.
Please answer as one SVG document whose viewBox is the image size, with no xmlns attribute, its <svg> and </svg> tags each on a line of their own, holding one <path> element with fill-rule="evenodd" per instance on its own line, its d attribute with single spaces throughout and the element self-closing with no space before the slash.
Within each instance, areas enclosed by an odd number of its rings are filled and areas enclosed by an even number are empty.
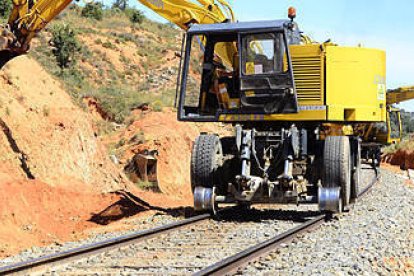
<svg viewBox="0 0 414 276">
<path fill-rule="evenodd" d="M 373 177 L 369 185 L 364 187 L 364 189 L 362 189 L 359 192 L 358 198 L 362 198 L 363 196 L 365 196 L 369 191 L 371 191 L 375 183 L 377 183 L 379 179 L 379 172 L 377 168 L 374 168 L 374 170 L 375 170 L 375 176 Z M 310 230 L 318 226 L 321 226 L 326 220 L 329 220 L 331 216 L 332 214 L 329 214 L 329 213 L 317 216 L 287 232 L 279 234 L 269 240 L 266 240 L 240 253 L 237 253 L 211 266 L 208 266 L 194 273 L 193 275 L 194 276 L 226 275 L 232 272 L 236 272 L 239 268 L 244 267 L 248 265 L 249 263 L 251 263 L 252 261 L 257 260 L 258 258 L 274 251 L 282 243 L 289 242 L 293 240 L 294 238 L 296 238 L 298 235 L 305 233 L 305 232 L 309 232 Z"/>
</svg>

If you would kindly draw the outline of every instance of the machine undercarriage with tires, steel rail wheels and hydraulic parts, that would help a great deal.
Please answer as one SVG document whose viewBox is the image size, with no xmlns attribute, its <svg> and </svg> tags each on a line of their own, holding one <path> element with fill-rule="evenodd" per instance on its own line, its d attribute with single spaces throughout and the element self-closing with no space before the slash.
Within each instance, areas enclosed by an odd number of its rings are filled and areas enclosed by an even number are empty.
<svg viewBox="0 0 414 276">
<path fill-rule="evenodd" d="M 358 182 L 360 160 L 351 148 L 361 150 L 361 143 L 345 136 L 322 141 L 318 130 L 317 125 L 236 125 L 233 137 L 201 135 L 191 168 L 196 209 L 215 211 L 218 203 L 319 203 L 321 209 L 342 211 L 356 197 L 351 188 L 355 190 Z M 342 166 L 346 179 L 330 170 L 328 161 Z M 341 182 L 343 187 L 338 185 Z M 346 190 L 346 195 L 340 190 Z"/>
</svg>

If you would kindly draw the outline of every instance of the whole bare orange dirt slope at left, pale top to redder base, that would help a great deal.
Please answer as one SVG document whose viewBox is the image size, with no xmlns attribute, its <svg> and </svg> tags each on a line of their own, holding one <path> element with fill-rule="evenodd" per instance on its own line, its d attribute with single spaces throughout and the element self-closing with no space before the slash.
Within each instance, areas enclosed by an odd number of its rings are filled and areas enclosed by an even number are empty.
<svg viewBox="0 0 414 276">
<path fill-rule="evenodd" d="M 0 71 L 0 257 L 97 227 L 89 221 L 128 182 L 107 157 L 88 113 L 35 61 Z"/>
</svg>

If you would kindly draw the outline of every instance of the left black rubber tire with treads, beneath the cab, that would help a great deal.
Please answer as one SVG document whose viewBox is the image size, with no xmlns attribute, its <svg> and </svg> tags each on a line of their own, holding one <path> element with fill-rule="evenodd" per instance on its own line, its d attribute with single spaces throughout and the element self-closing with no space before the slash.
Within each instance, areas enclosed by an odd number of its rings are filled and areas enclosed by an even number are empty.
<svg viewBox="0 0 414 276">
<path fill-rule="evenodd" d="M 223 149 L 218 136 L 200 135 L 191 154 L 191 188 L 213 188 L 219 184 Z"/>
</svg>

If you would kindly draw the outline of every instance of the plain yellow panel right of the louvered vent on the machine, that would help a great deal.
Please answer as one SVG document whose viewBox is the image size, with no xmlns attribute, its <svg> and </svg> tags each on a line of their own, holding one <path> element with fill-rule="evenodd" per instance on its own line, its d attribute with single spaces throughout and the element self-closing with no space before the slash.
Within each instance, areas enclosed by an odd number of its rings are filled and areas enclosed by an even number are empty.
<svg viewBox="0 0 414 276">
<path fill-rule="evenodd" d="M 385 121 L 385 52 L 328 46 L 326 105 L 328 121 Z"/>
</svg>

